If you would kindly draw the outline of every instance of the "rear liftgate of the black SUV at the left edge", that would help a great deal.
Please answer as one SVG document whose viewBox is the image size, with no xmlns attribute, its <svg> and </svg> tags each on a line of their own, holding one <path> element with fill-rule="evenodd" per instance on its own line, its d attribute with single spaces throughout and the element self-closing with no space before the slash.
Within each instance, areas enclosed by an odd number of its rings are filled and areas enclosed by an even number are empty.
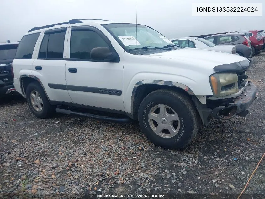
<svg viewBox="0 0 265 199">
<path fill-rule="evenodd" d="M 18 44 L 0 45 L 0 84 L 13 82 L 11 63 L 15 58 Z"/>
</svg>

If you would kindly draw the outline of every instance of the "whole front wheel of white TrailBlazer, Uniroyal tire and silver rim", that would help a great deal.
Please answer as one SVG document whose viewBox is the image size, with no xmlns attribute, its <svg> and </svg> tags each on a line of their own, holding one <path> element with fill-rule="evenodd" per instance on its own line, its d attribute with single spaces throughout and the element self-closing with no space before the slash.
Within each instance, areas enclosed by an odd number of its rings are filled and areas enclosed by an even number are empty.
<svg viewBox="0 0 265 199">
<path fill-rule="evenodd" d="M 191 100 L 182 93 L 159 89 L 148 94 L 138 110 L 140 127 L 155 145 L 180 149 L 199 130 L 199 115 Z"/>
</svg>

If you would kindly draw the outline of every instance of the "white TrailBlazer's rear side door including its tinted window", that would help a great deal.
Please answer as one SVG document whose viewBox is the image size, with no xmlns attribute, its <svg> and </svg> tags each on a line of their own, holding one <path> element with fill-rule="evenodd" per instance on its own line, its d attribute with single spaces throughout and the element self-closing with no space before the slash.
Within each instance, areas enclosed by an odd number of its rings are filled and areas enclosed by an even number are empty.
<svg viewBox="0 0 265 199">
<path fill-rule="evenodd" d="M 65 80 L 67 36 L 67 27 L 45 30 L 32 64 L 32 75 L 40 79 L 55 103 L 72 102 Z"/>
</svg>

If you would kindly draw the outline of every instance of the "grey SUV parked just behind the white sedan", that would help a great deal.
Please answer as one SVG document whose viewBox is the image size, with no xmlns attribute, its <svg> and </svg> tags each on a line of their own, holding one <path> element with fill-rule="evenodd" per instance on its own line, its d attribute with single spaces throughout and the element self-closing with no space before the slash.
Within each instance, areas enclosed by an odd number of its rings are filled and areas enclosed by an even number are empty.
<svg viewBox="0 0 265 199">
<path fill-rule="evenodd" d="M 215 45 L 235 45 L 236 53 L 245 58 L 252 58 L 250 40 L 245 33 L 226 33 L 204 37 Z"/>
</svg>

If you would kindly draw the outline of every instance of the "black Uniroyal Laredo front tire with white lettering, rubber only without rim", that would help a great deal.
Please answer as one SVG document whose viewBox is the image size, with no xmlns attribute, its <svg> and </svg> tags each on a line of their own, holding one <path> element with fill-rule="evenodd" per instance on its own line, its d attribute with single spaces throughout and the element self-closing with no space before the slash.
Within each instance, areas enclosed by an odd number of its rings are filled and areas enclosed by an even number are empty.
<svg viewBox="0 0 265 199">
<path fill-rule="evenodd" d="M 171 138 L 157 135 L 149 124 L 149 112 L 159 104 L 172 108 L 179 117 L 180 129 L 177 135 Z M 138 110 L 138 121 L 146 137 L 156 146 L 166 149 L 181 149 L 187 146 L 200 126 L 199 113 L 191 99 L 182 93 L 166 89 L 153 91 L 143 99 Z"/>
</svg>

